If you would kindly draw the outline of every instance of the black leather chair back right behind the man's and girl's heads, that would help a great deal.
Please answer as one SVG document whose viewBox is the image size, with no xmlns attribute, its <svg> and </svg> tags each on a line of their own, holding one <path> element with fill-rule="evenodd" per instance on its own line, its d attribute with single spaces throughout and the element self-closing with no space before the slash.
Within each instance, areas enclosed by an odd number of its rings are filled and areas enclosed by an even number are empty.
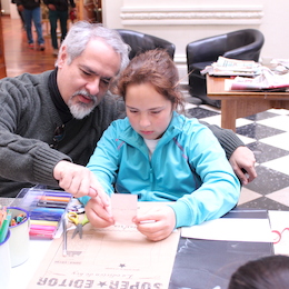
<svg viewBox="0 0 289 289">
<path fill-rule="evenodd" d="M 166 49 L 171 59 L 173 59 L 176 46 L 165 39 L 128 29 L 117 29 L 117 31 L 122 40 L 131 47 L 129 59 L 156 48 Z"/>
</svg>

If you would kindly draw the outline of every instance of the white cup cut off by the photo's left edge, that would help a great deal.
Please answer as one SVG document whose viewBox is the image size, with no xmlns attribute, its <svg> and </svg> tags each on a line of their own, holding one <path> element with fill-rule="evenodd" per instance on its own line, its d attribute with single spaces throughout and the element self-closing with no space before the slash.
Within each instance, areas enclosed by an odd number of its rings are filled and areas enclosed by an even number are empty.
<svg viewBox="0 0 289 289">
<path fill-rule="evenodd" d="M 0 285 L 2 289 L 9 288 L 11 273 L 9 239 L 10 230 L 8 230 L 6 239 L 2 242 L 0 242 Z"/>
</svg>

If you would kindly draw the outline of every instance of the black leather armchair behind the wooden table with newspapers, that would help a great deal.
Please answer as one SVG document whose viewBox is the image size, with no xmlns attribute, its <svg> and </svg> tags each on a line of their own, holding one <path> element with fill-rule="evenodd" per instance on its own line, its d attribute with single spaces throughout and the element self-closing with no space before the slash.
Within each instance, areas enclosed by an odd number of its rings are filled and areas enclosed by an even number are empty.
<svg viewBox="0 0 289 289">
<path fill-rule="evenodd" d="M 220 100 L 207 97 L 206 76 L 200 71 L 216 62 L 219 56 L 258 61 L 263 42 L 263 34 L 259 30 L 242 29 L 188 43 L 186 52 L 190 94 L 199 98 L 203 104 L 220 108 Z"/>
</svg>

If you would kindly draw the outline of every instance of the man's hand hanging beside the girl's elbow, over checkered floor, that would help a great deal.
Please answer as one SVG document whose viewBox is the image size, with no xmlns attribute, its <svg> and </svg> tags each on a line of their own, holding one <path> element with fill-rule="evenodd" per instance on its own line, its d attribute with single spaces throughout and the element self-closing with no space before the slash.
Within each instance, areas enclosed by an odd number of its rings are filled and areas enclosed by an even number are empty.
<svg viewBox="0 0 289 289">
<path fill-rule="evenodd" d="M 229 159 L 235 173 L 239 177 L 242 185 L 248 185 L 257 177 L 255 170 L 253 152 L 247 147 L 238 147 Z"/>
</svg>

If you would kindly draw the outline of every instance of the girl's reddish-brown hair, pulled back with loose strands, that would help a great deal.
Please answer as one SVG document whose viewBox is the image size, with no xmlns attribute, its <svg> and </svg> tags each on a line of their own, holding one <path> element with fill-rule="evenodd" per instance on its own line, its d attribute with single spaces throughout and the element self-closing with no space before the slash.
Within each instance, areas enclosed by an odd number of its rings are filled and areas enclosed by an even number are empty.
<svg viewBox="0 0 289 289">
<path fill-rule="evenodd" d="M 148 50 L 134 57 L 122 71 L 117 92 L 126 101 L 129 84 L 150 83 L 156 91 L 181 112 L 185 111 L 185 99 L 179 89 L 178 69 L 166 50 Z"/>
</svg>

